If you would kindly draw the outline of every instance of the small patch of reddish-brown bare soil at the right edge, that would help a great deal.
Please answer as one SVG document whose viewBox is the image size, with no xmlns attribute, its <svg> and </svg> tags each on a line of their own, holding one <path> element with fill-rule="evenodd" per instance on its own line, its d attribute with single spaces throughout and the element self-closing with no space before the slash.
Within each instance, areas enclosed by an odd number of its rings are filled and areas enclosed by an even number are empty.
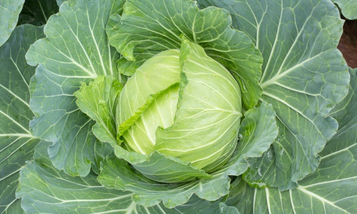
<svg viewBox="0 0 357 214">
<path fill-rule="evenodd" d="M 342 52 L 348 66 L 357 68 L 357 20 L 346 20 L 337 48 Z"/>
</svg>

